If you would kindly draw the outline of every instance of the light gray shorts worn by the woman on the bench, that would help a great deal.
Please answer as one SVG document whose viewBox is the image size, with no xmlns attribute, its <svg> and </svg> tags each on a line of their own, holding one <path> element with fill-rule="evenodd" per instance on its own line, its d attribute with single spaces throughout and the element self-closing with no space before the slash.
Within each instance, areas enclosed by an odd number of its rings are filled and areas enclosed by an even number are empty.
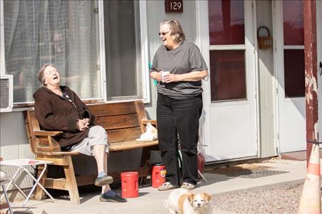
<svg viewBox="0 0 322 214">
<path fill-rule="evenodd" d="M 81 142 L 72 146 L 71 151 L 76 151 L 84 155 L 94 156 L 92 146 L 106 145 L 106 152 L 108 152 L 108 133 L 102 126 L 92 126 L 88 131 L 87 137 Z"/>
</svg>

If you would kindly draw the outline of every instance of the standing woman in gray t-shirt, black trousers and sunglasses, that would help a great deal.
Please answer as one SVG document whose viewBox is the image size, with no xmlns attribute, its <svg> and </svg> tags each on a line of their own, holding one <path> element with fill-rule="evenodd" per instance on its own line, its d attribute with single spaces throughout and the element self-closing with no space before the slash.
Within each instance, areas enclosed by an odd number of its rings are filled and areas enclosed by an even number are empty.
<svg viewBox="0 0 322 214">
<path fill-rule="evenodd" d="M 158 189 L 168 190 L 180 185 L 194 189 L 198 178 L 201 80 L 208 76 L 208 67 L 198 47 L 186 40 L 179 21 L 173 19 L 160 23 L 159 36 L 163 44 L 154 55 L 150 72 L 150 76 L 158 81 L 158 139 L 166 167 L 166 183 Z M 182 152 L 182 178 L 177 157 L 177 134 Z"/>
</svg>

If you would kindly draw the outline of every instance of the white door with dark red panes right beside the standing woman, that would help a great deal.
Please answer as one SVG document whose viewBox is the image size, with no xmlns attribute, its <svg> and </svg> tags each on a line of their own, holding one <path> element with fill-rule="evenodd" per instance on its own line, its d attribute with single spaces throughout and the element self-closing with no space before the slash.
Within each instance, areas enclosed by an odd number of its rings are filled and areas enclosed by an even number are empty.
<svg viewBox="0 0 322 214">
<path fill-rule="evenodd" d="M 201 1 L 201 51 L 206 161 L 257 157 L 253 1 Z M 208 11 L 208 13 L 204 12 Z M 206 42 L 205 42 L 206 41 Z"/>
</svg>

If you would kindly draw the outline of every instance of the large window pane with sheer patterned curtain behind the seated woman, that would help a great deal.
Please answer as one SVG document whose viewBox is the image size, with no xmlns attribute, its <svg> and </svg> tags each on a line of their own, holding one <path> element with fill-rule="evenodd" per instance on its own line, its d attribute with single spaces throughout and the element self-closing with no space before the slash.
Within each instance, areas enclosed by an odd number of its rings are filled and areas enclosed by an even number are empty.
<svg viewBox="0 0 322 214">
<path fill-rule="evenodd" d="M 101 98 L 97 1 L 3 1 L 5 70 L 14 103 L 33 102 L 38 70 L 55 64 L 82 98 Z"/>
</svg>

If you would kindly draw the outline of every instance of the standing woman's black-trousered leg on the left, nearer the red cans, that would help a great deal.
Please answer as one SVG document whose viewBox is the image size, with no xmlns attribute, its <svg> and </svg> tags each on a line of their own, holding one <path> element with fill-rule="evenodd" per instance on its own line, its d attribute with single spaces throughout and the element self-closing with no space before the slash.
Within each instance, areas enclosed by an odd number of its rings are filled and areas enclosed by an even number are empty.
<svg viewBox="0 0 322 214">
<path fill-rule="evenodd" d="M 158 140 L 161 158 L 166 168 L 166 181 L 174 186 L 179 183 L 179 161 L 176 155 L 177 132 L 173 109 L 168 102 L 169 97 L 158 94 L 157 122 Z"/>
</svg>

